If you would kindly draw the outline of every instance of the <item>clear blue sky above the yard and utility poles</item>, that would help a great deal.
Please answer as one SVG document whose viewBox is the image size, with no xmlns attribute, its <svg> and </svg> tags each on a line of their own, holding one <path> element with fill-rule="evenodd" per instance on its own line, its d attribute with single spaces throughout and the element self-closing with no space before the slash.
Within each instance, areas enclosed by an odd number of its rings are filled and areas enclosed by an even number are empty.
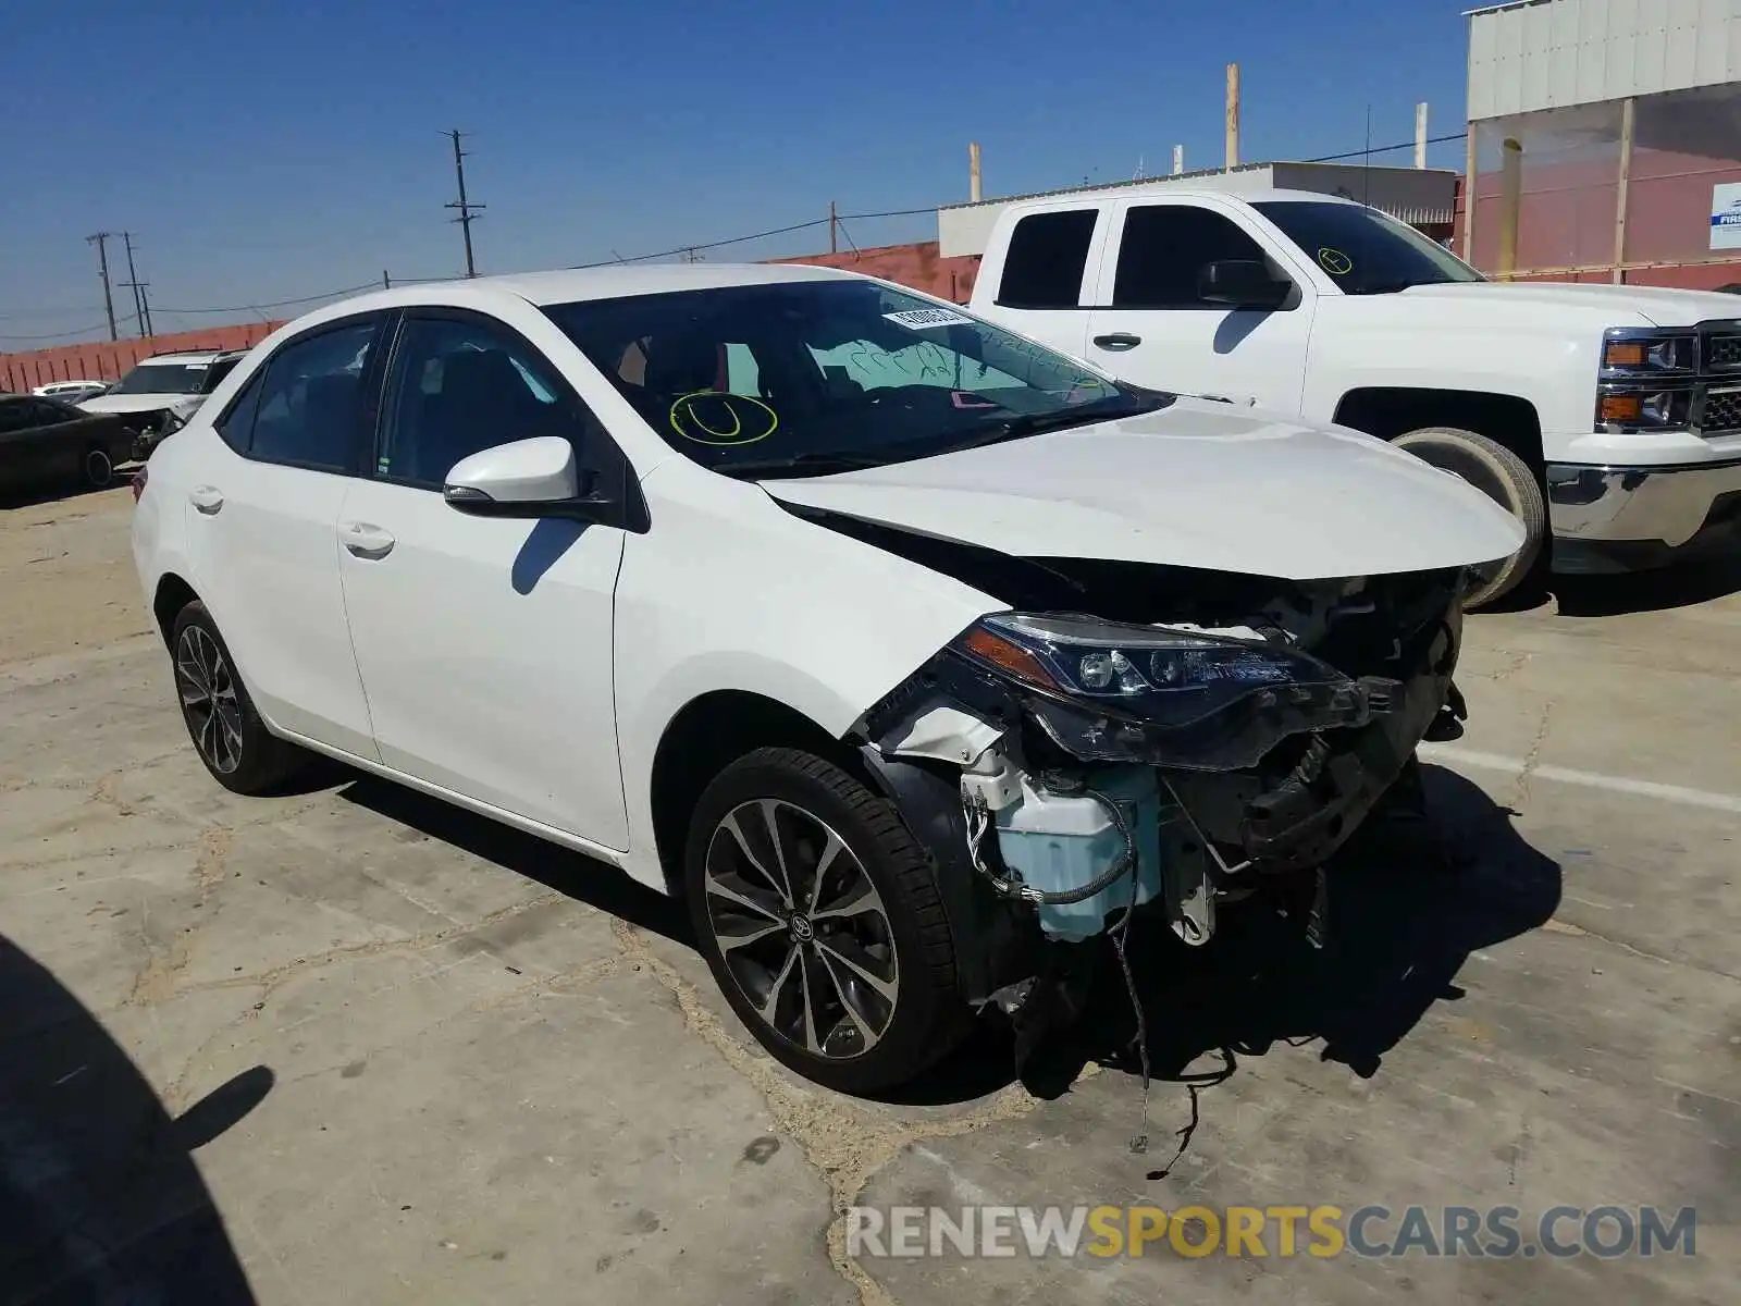
<svg viewBox="0 0 1741 1306">
<path fill-rule="evenodd" d="M 449 143 L 489 207 L 481 272 L 634 256 L 827 214 L 1462 129 L 1461 0 L 1072 5 L 884 0 L 308 0 L 24 5 L 5 23 L 0 350 L 103 322 L 96 251 L 129 230 L 158 329 L 380 279 L 463 270 Z M 1461 167 L 1461 145 L 1433 162 Z M 1379 162 L 1407 162 L 1407 153 Z M 926 216 L 848 226 L 935 237 Z M 712 251 L 776 258 L 827 230 Z M 111 256 L 118 254 L 111 247 Z M 117 294 L 117 312 L 131 313 Z M 101 338 L 106 331 L 92 333 Z M 125 334 L 125 331 L 124 331 Z"/>
</svg>

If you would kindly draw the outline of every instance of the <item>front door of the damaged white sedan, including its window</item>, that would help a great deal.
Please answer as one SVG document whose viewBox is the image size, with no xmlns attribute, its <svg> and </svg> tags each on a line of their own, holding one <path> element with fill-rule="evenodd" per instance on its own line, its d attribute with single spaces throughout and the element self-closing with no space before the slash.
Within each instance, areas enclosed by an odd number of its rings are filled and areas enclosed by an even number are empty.
<svg viewBox="0 0 1741 1306">
<path fill-rule="evenodd" d="M 625 850 L 611 606 L 623 533 L 468 517 L 456 461 L 566 435 L 616 474 L 609 437 L 507 324 L 411 310 L 387 378 L 376 461 L 338 514 L 350 632 L 381 761 L 477 803 Z"/>
</svg>

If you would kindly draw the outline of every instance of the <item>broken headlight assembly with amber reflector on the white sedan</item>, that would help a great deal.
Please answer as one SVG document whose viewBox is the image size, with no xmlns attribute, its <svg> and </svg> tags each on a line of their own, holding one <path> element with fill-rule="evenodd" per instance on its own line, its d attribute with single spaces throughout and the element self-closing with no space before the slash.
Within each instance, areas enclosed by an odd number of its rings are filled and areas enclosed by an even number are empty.
<svg viewBox="0 0 1741 1306">
<path fill-rule="evenodd" d="M 1288 735 L 1363 726 L 1395 681 L 1354 681 L 1292 644 L 1092 616 L 998 613 L 951 646 L 1013 681 L 1083 761 L 1233 771 Z"/>
</svg>

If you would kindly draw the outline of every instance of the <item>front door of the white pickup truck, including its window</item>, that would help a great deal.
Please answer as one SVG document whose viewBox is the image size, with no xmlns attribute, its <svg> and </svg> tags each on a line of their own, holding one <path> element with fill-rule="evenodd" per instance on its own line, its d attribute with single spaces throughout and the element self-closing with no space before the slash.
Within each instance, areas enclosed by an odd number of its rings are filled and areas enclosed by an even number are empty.
<svg viewBox="0 0 1741 1306">
<path fill-rule="evenodd" d="M 1266 259 L 1288 270 L 1233 216 L 1201 204 L 1118 207 L 1093 298 L 1102 306 L 1088 313 L 1090 362 L 1137 385 L 1299 413 L 1313 287 L 1302 286 L 1290 308 L 1208 303 L 1198 294 L 1207 263 Z"/>
</svg>

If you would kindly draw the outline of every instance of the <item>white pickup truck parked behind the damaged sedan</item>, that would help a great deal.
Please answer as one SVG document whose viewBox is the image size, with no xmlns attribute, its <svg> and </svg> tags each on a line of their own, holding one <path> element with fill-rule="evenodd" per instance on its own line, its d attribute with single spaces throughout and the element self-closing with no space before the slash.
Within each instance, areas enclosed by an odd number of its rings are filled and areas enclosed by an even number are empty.
<svg viewBox="0 0 1741 1306">
<path fill-rule="evenodd" d="M 1628 571 L 1741 547 L 1732 296 L 1490 282 L 1361 204 L 1161 183 L 1012 204 L 971 308 L 1121 380 L 1457 472 L 1529 529 L 1471 606 L 1537 561 Z M 1325 507 L 1360 512 L 1301 503 L 1301 528 Z"/>
</svg>

